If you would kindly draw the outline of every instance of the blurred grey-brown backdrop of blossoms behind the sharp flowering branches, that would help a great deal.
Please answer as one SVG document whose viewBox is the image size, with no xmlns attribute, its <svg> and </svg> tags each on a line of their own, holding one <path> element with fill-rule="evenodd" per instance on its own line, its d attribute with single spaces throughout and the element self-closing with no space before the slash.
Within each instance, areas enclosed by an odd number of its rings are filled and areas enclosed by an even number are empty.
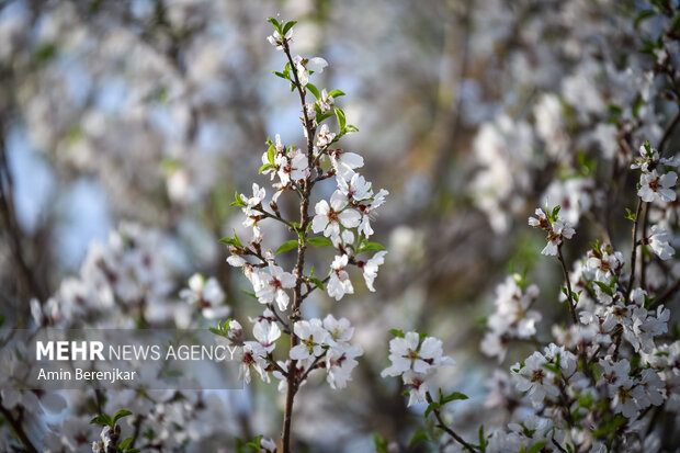
<svg viewBox="0 0 680 453">
<path fill-rule="evenodd" d="M 546 199 L 563 204 L 578 223 L 569 261 L 602 231 L 630 250 L 624 206 L 634 206 L 635 181 L 626 167 L 644 140 L 658 143 L 676 109 L 659 101 L 668 81 L 656 78 L 653 52 L 637 52 L 665 23 L 635 21 L 649 8 L 615 0 L 1 1 L 4 327 L 41 319 L 213 326 L 179 297 L 195 272 L 219 281 L 230 316 L 248 327 L 260 306 L 241 292 L 247 281 L 217 240 L 245 230 L 230 203 L 235 191 L 267 182 L 257 175 L 265 139 L 304 143 L 297 100 L 272 76 L 285 61 L 265 41 L 265 19 L 279 15 L 298 21 L 294 53 L 328 60 L 314 82 L 347 93 L 337 103 L 360 131 L 343 147 L 362 154 L 362 173 L 389 191 L 374 226 L 389 250 L 377 292 L 355 284 L 341 303 L 321 294 L 305 308 L 348 317 L 365 354 L 347 389 L 331 392 L 321 378 L 304 387 L 295 415 L 301 451 L 372 451 L 375 435 L 406 449 L 422 428 L 423 408 L 407 410 L 398 380 L 379 377 L 388 328 L 444 340 L 457 366 L 441 384 L 471 396 L 447 414 L 463 432 L 500 424 L 500 412 L 480 410 L 499 365 L 479 348 L 497 285 L 511 269 L 529 270 L 543 290 L 539 338 L 566 315 L 559 264 L 540 256 L 544 237 L 526 216 Z M 284 234 L 268 230 L 270 247 Z M 528 351 L 517 347 L 500 367 Z M 37 417 L 31 435 L 45 451 L 88 451 L 98 437 L 87 426 L 95 396 L 64 395 L 67 407 Z M 276 438 L 283 401 L 274 384 L 256 380 L 203 412 L 182 409 L 192 422 L 173 428 L 152 416 L 161 406 L 169 414 L 170 403 L 125 394 L 104 405 L 149 415 L 166 439 L 159 450 L 233 451 L 236 438 Z M 11 443 L 8 437 L 8 451 Z"/>
</svg>

